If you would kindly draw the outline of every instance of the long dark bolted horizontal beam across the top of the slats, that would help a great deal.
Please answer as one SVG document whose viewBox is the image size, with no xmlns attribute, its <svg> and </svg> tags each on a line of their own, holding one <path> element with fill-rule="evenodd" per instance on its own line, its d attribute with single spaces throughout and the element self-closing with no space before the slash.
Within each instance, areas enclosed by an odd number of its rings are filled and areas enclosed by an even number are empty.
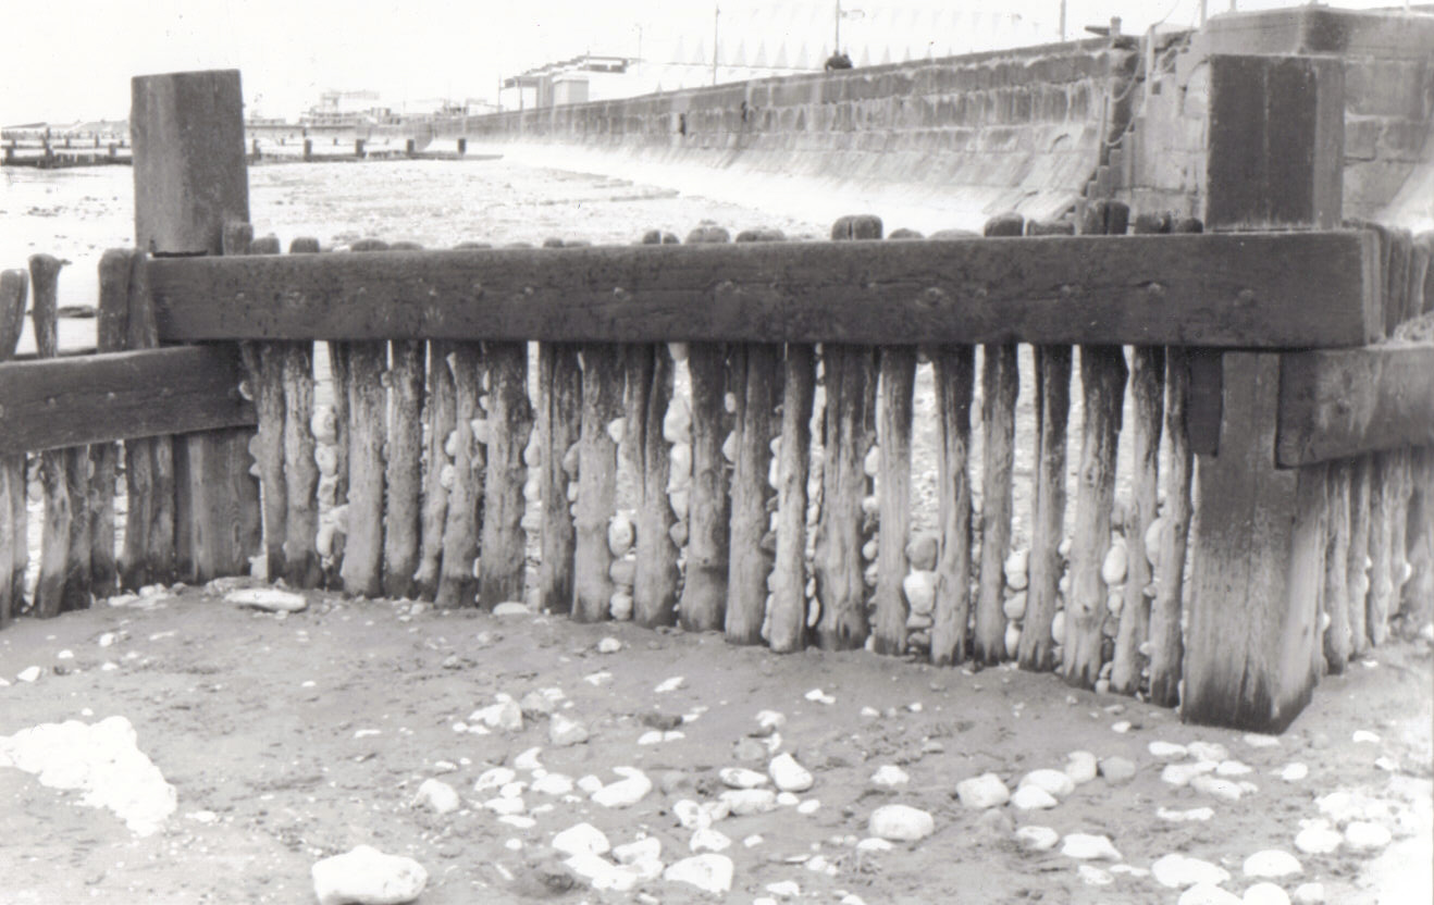
<svg viewBox="0 0 1434 905">
<path fill-rule="evenodd" d="M 166 341 L 1133 343 L 1374 336 L 1365 232 L 159 258 Z"/>
</svg>

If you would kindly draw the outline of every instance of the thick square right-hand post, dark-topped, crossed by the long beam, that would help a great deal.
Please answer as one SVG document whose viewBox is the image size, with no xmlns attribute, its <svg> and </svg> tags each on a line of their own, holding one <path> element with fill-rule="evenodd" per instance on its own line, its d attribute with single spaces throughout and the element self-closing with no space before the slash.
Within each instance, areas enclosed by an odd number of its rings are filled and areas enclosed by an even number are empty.
<svg viewBox="0 0 1434 905">
<path fill-rule="evenodd" d="M 1209 136 L 1207 227 L 1339 225 L 1339 60 L 1210 57 Z M 1326 468 L 1275 465 L 1279 354 L 1225 353 L 1220 382 L 1216 452 L 1197 463 L 1180 716 L 1283 731 L 1309 701 L 1322 663 Z"/>
</svg>

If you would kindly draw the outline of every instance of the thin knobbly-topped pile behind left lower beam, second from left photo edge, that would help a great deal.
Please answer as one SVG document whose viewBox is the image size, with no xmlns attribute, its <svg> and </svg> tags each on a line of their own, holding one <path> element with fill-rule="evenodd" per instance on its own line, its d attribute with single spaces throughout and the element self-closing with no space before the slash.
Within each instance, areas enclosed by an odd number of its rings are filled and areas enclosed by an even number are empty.
<svg viewBox="0 0 1434 905">
<path fill-rule="evenodd" d="M 34 287 L 34 349 L 39 357 L 59 354 L 56 284 L 60 261 L 47 254 L 30 257 L 30 283 Z M 83 608 L 80 597 L 89 594 L 89 532 L 82 532 L 87 509 L 85 486 L 75 486 L 83 472 L 75 468 L 73 449 L 47 449 L 40 453 L 40 479 L 44 488 L 44 534 L 40 539 L 40 578 L 34 585 L 34 614 L 56 617 Z M 86 463 L 87 463 L 86 453 Z M 76 498 L 80 512 L 75 511 Z M 83 551 L 76 542 L 83 541 Z M 83 552 L 83 567 L 80 565 Z M 83 574 L 82 574 L 83 568 Z M 86 601 L 87 602 L 87 601 Z"/>
</svg>

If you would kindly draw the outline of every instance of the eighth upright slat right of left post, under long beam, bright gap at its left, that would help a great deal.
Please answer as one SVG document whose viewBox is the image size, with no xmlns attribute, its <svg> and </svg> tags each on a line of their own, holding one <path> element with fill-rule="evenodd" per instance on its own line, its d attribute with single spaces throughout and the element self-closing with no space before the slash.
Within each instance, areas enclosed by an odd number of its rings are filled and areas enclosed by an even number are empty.
<svg viewBox="0 0 1434 905">
<path fill-rule="evenodd" d="M 578 470 L 578 437 L 582 423 L 582 371 L 578 367 L 578 349 L 568 343 L 543 343 L 538 349 L 538 371 L 542 393 L 539 410 L 542 565 L 538 569 L 538 600 L 552 612 L 571 612 L 576 535 L 568 486 Z"/>
</svg>

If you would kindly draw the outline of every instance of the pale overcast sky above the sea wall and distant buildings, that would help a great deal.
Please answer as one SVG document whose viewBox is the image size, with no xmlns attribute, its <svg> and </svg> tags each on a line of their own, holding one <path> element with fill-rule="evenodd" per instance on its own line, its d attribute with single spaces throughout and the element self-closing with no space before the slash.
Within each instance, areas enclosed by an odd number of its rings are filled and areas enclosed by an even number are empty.
<svg viewBox="0 0 1434 905">
<path fill-rule="evenodd" d="M 718 0 L 739 10 L 784 0 Z M 797 0 L 793 0 L 797 1 Z M 803 0 L 807 6 L 813 0 Z M 1207 0 L 1210 13 L 1229 0 Z M 1388 6 L 1398 0 L 1342 0 Z M 1240 9 L 1298 0 L 1239 0 Z M 835 9 L 835 0 L 832 0 Z M 846 9 L 969 7 L 1018 13 L 1057 40 L 1058 0 L 842 0 Z M 242 72 L 247 106 L 295 116 L 328 87 L 387 102 L 493 100 L 500 76 L 584 52 L 635 56 L 640 30 L 710 34 L 713 0 L 14 0 L 0 14 L 0 125 L 123 118 L 129 79 Z M 1193 24 L 1199 0 L 1068 0 L 1068 32 L 1121 16 Z"/>
</svg>

